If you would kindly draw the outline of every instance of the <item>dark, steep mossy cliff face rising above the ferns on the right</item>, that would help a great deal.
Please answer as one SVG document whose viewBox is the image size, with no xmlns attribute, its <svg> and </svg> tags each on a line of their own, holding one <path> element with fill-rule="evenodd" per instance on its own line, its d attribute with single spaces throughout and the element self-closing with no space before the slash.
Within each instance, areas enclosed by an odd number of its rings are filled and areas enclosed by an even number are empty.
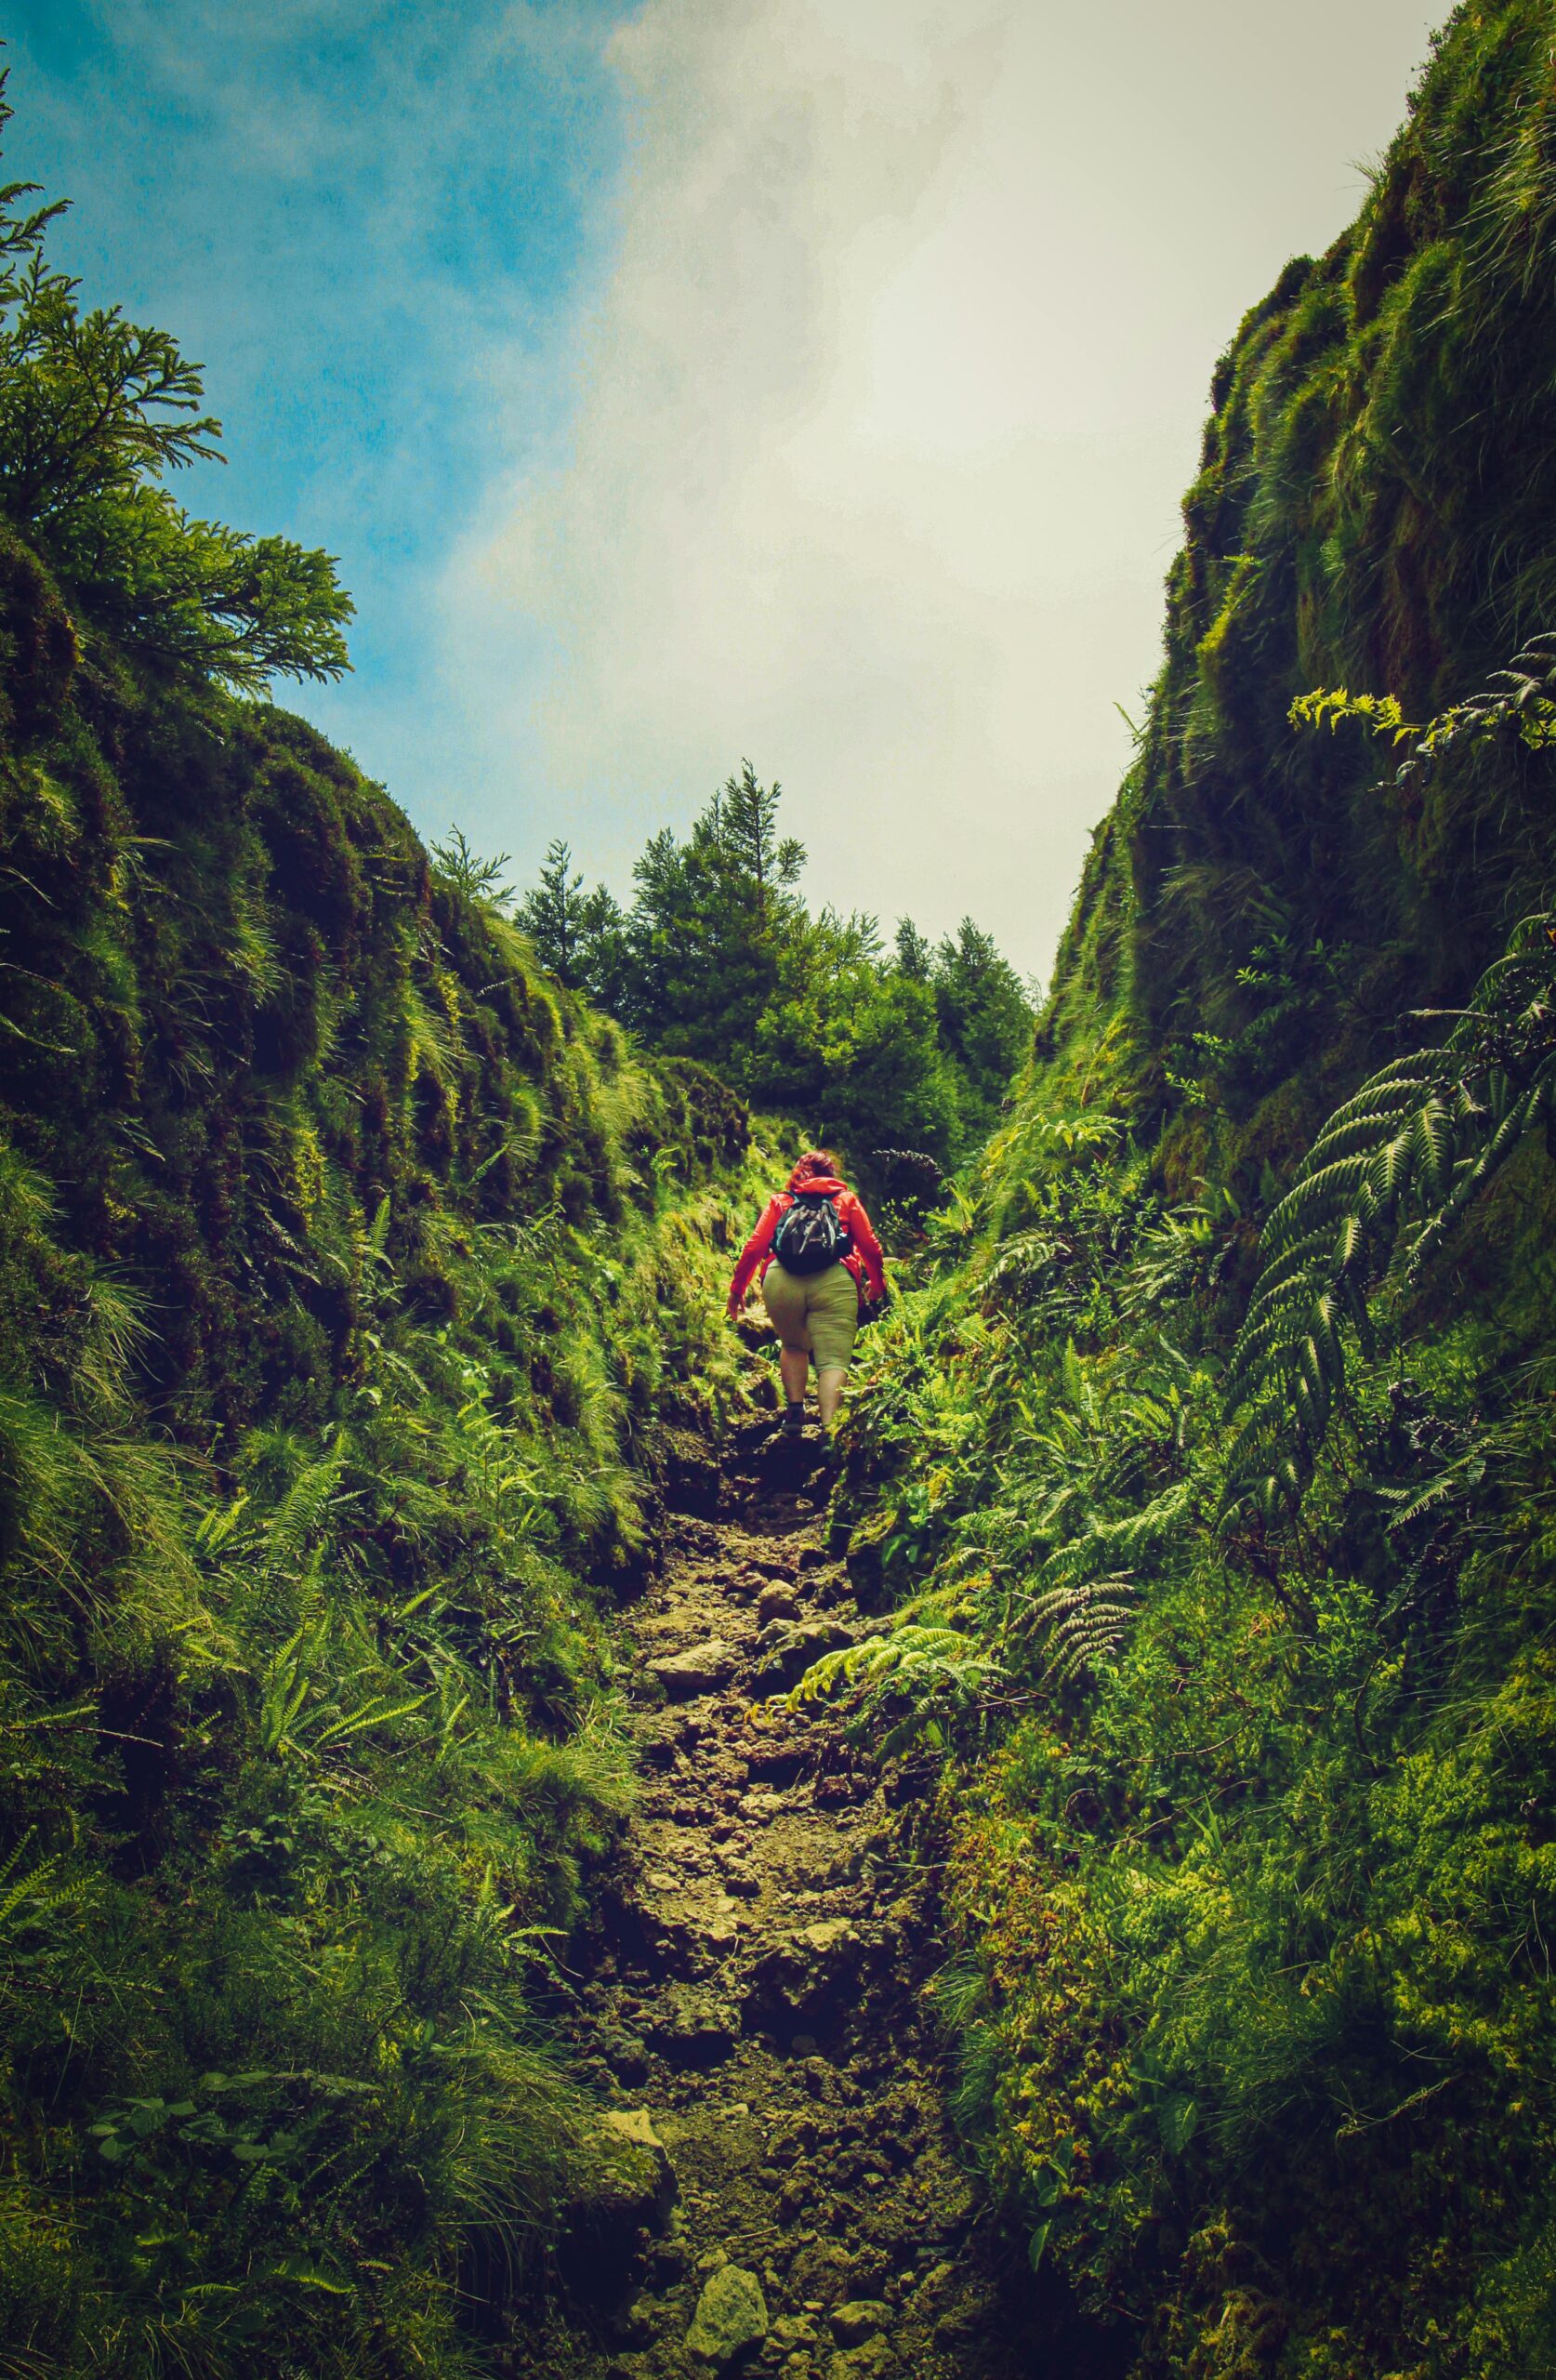
<svg viewBox="0 0 1556 2380">
<path fill-rule="evenodd" d="M 1135 1109 L 1209 1102 L 1228 1154 L 1292 1073 L 1311 1123 L 1549 888 L 1535 754 L 1394 785 L 1387 747 L 1287 709 L 1347 685 L 1428 719 L 1556 621 L 1554 112 L 1549 12 L 1461 7 L 1356 226 L 1216 367 L 1163 671 L 1042 1042 L 1085 1083 L 1116 1019 Z"/>
</svg>

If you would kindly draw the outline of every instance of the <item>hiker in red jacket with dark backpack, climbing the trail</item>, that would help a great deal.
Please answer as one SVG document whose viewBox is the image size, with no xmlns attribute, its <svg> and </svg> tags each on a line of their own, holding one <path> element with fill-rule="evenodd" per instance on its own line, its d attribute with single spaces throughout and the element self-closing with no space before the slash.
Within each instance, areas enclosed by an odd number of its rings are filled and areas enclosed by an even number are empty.
<svg viewBox="0 0 1556 2380">
<path fill-rule="evenodd" d="M 816 1364 L 821 1428 L 830 1435 L 864 1307 L 885 1302 L 885 1261 L 871 1219 L 828 1150 L 807 1150 L 788 1190 L 766 1202 L 730 1280 L 730 1321 L 761 1269 L 761 1299 L 780 1338 L 783 1428 L 804 1428 L 804 1383 Z"/>
</svg>

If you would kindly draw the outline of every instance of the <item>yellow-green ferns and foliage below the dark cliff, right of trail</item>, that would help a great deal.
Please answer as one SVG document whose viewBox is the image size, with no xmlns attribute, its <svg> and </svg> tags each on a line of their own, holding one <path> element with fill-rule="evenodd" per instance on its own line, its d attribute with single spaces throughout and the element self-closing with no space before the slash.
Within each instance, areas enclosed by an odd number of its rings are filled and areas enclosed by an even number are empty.
<svg viewBox="0 0 1556 2380">
<path fill-rule="evenodd" d="M 1259 1280 L 1056 1061 L 866 1354 L 799 1692 L 945 1756 L 961 2113 L 1135 2380 L 1556 2368 L 1554 1064 L 1535 919 Z"/>
</svg>

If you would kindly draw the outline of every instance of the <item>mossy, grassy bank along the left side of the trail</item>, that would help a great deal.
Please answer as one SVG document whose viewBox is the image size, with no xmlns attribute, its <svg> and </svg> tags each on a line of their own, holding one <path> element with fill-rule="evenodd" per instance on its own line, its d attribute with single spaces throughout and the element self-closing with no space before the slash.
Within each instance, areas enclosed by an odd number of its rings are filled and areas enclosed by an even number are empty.
<svg viewBox="0 0 1556 2380">
<path fill-rule="evenodd" d="M 0 850 L 0 2337 L 466 2370 L 592 2154 L 526 1978 L 747 1119 L 14 538 Z"/>
</svg>

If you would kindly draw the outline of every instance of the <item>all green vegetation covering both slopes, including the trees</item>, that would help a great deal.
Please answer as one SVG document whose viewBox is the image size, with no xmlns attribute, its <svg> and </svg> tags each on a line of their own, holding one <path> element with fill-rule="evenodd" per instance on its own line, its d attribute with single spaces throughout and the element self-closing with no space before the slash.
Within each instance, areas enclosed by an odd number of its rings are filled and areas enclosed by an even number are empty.
<svg viewBox="0 0 1556 2380">
<path fill-rule="evenodd" d="M 1556 2370 L 1554 93 L 1461 10 L 1218 364 L 1011 1107 L 987 938 L 811 916 L 749 766 L 514 916 L 252 700 L 328 562 L 169 502 L 197 374 L 7 212 L 0 2370 L 481 2368 L 745 1097 L 992 1128 L 847 1423 L 890 1623 L 797 1695 L 945 1859 L 1033 2266 L 1137 2380 Z"/>
</svg>

